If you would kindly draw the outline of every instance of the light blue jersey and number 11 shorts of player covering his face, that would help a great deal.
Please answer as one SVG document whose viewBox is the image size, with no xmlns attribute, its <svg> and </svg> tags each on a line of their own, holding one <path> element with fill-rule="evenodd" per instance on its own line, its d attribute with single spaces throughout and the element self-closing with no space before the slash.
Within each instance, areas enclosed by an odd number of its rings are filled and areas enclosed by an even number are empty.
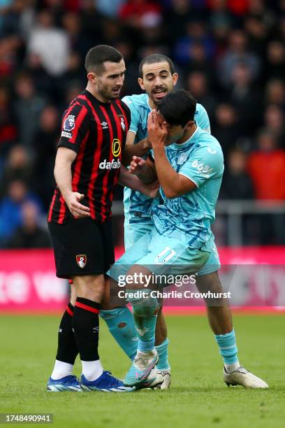
<svg viewBox="0 0 285 428">
<path fill-rule="evenodd" d="M 201 276 L 219 269 L 211 223 L 224 173 L 221 146 L 197 127 L 185 143 L 168 145 L 166 155 L 173 169 L 197 187 L 174 199 L 160 190 L 163 204 L 152 207 L 154 226 L 112 265 L 108 275 L 115 280 L 134 264 L 155 274 L 198 271 Z"/>
</svg>

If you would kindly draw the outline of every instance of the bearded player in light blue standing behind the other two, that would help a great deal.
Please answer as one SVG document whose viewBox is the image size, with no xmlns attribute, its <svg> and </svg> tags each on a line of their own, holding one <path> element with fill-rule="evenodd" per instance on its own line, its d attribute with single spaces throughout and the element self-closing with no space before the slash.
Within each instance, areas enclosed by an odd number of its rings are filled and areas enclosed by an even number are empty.
<svg viewBox="0 0 285 428">
<path fill-rule="evenodd" d="M 157 108 L 159 103 L 169 92 L 173 90 L 178 79 L 175 73 L 173 62 L 165 55 L 149 55 L 139 66 L 138 83 L 145 94 L 131 95 L 123 98 L 123 101 L 131 110 L 131 124 L 126 138 L 126 148 L 124 159 L 130 162 L 133 155 L 146 156 L 151 149 L 151 144 L 147 138 L 147 116 L 153 108 Z M 200 128 L 210 132 L 210 122 L 207 112 L 203 106 L 197 104 L 195 120 Z M 125 250 L 128 250 L 133 243 L 152 230 L 153 222 L 150 215 L 153 199 L 141 192 L 124 189 L 124 243 Z M 213 242 L 214 246 L 214 242 Z M 217 252 L 216 252 L 217 253 Z M 212 260 L 210 263 L 213 264 Z M 216 259 L 214 260 L 217 269 Z M 208 266 L 209 268 L 209 266 Z M 219 268 L 219 266 L 218 266 Z M 112 310 L 101 310 L 101 317 L 107 322 L 111 334 L 115 337 L 126 354 L 133 359 L 136 355 L 136 334 L 133 326 L 132 315 L 129 309 L 114 308 Z M 124 325 L 124 327 L 119 327 Z M 170 386 L 170 365 L 168 364 L 168 338 L 166 322 L 159 309 L 156 326 L 156 350 L 159 352 L 159 362 L 157 369 L 163 374 L 162 389 Z"/>
</svg>

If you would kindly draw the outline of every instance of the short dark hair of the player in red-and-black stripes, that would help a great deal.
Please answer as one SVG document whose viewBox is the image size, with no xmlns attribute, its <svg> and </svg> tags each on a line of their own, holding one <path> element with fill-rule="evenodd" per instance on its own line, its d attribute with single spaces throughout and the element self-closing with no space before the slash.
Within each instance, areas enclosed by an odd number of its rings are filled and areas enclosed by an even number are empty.
<svg viewBox="0 0 285 428">
<path fill-rule="evenodd" d="M 87 73 L 95 71 L 97 74 L 101 74 L 104 71 L 104 62 L 120 62 L 121 59 L 124 59 L 122 53 L 112 48 L 112 46 L 94 46 L 87 52 L 85 57 L 85 69 Z"/>
</svg>

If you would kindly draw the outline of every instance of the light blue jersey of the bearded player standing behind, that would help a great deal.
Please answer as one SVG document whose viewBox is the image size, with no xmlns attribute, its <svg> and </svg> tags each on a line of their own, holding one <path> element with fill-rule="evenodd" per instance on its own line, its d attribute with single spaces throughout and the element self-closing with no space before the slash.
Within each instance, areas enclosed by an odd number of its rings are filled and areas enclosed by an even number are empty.
<svg viewBox="0 0 285 428">
<path fill-rule="evenodd" d="M 147 117 L 151 108 L 148 104 L 147 94 L 128 95 L 122 99 L 131 110 L 131 124 L 129 131 L 136 134 L 135 143 L 143 140 L 147 136 Z M 197 104 L 194 116 L 196 124 L 201 129 L 210 133 L 210 122 L 207 111 L 201 104 Z M 124 188 L 124 213 L 129 222 L 138 223 L 150 219 L 153 199 L 146 197 L 140 192 L 135 192 L 128 187 Z M 140 220 L 141 219 L 141 220 Z M 129 245 L 128 245 L 129 246 Z"/>
</svg>

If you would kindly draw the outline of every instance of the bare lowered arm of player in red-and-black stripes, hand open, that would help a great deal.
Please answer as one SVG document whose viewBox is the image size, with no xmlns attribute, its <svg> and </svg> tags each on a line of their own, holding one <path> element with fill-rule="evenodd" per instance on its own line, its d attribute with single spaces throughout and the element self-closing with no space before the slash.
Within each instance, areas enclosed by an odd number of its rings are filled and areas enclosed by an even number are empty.
<svg viewBox="0 0 285 428">
<path fill-rule="evenodd" d="M 71 214 L 75 217 L 89 217 L 89 208 L 80 204 L 84 194 L 72 190 L 71 165 L 76 156 L 77 153 L 74 150 L 59 147 L 55 158 L 54 178 Z"/>
</svg>

